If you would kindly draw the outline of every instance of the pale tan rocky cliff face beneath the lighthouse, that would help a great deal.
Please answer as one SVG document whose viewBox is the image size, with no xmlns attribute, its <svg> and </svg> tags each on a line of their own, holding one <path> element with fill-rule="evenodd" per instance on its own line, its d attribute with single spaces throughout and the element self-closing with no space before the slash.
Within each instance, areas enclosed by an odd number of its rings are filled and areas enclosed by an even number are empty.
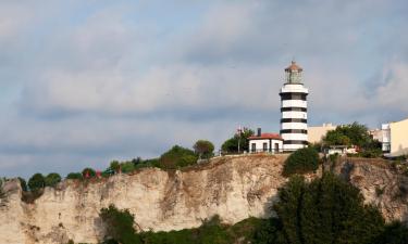
<svg viewBox="0 0 408 244">
<path fill-rule="evenodd" d="M 20 184 L 11 180 L 0 196 L 0 243 L 97 243 L 103 232 L 98 213 L 109 204 L 128 208 L 139 230 L 194 228 L 213 215 L 226 223 L 267 217 L 287 180 L 281 176 L 285 158 L 231 156 L 184 170 L 146 168 L 109 179 L 69 180 L 47 188 L 33 204 L 21 201 Z M 388 220 L 407 219 L 407 177 L 386 163 L 347 159 L 332 170 L 360 188 Z"/>
</svg>

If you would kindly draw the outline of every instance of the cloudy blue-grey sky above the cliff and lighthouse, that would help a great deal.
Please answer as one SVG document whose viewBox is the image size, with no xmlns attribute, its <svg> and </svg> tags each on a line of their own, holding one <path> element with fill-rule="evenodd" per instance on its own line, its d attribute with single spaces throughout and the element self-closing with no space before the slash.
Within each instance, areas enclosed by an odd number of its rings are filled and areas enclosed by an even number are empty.
<svg viewBox="0 0 408 244">
<path fill-rule="evenodd" d="M 239 126 L 408 117 L 406 0 L 0 0 L 0 176 L 104 169 Z"/>
</svg>

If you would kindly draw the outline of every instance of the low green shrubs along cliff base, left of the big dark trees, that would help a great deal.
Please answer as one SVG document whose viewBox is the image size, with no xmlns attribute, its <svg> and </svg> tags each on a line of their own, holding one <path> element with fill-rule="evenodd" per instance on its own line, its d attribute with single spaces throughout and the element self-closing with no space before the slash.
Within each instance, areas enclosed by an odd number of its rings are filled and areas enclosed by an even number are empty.
<svg viewBox="0 0 408 244">
<path fill-rule="evenodd" d="M 100 218 L 107 232 L 103 244 L 230 244 L 252 241 L 255 233 L 267 220 L 249 218 L 234 226 L 222 224 L 214 216 L 206 220 L 201 227 L 170 232 L 140 232 L 132 228 L 134 216 L 126 209 L 114 206 L 102 208 Z"/>
</svg>

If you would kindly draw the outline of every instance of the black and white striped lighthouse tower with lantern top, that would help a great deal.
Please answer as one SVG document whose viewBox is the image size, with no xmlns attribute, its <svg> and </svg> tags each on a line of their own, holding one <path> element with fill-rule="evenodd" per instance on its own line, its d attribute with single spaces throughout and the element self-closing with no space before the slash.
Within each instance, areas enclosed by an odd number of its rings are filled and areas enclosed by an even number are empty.
<svg viewBox="0 0 408 244">
<path fill-rule="evenodd" d="M 295 61 L 285 68 L 286 81 L 281 88 L 281 137 L 283 150 L 295 151 L 307 145 L 307 95 L 308 89 L 301 82 L 301 72 Z"/>
</svg>

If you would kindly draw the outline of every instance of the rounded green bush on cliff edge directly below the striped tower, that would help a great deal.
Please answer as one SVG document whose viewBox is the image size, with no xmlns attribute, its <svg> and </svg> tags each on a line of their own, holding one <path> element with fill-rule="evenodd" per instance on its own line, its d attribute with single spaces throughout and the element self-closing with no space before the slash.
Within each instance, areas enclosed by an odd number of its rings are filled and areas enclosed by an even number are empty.
<svg viewBox="0 0 408 244">
<path fill-rule="evenodd" d="M 283 175 L 306 174 L 319 168 L 319 154 L 312 147 L 299 149 L 292 153 L 283 167 Z"/>
</svg>

